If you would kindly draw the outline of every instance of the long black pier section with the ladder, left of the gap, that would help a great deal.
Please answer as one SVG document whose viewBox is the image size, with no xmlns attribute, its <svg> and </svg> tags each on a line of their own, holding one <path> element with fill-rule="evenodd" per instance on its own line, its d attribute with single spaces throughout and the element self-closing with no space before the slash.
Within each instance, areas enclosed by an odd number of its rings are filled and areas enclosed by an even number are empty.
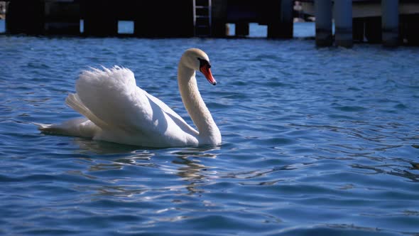
<svg viewBox="0 0 419 236">
<path fill-rule="evenodd" d="M 11 34 L 118 36 L 118 21 L 133 21 L 136 37 L 226 37 L 226 23 L 236 23 L 240 36 L 260 23 L 268 38 L 293 37 L 293 0 L 6 1 Z"/>
</svg>

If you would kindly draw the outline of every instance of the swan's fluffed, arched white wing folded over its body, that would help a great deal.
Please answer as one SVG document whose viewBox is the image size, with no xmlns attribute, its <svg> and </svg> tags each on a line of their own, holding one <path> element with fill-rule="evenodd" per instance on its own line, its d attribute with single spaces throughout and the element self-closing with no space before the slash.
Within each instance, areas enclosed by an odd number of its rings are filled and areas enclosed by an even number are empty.
<svg viewBox="0 0 419 236">
<path fill-rule="evenodd" d="M 76 91 L 85 107 L 107 125 L 104 129 L 155 135 L 167 128 L 169 114 L 178 126 L 193 130 L 170 107 L 137 87 L 129 69 L 85 70 Z"/>
</svg>

